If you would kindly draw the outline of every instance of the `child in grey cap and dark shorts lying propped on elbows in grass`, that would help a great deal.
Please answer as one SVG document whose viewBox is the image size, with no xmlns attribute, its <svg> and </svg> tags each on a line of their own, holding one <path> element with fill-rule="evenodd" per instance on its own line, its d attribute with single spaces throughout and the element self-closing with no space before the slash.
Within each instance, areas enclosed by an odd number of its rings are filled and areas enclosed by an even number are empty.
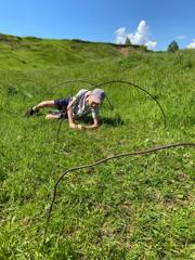
<svg viewBox="0 0 195 260">
<path fill-rule="evenodd" d="M 81 89 L 75 96 L 69 99 L 60 99 L 52 101 L 42 101 L 32 108 L 30 108 L 26 116 L 32 116 L 37 114 L 41 108 L 44 107 L 55 107 L 58 109 L 56 114 L 48 114 L 47 119 L 60 119 L 67 118 L 69 122 L 69 128 L 78 128 L 79 130 L 86 129 L 96 129 L 100 126 L 100 105 L 103 104 L 105 98 L 104 90 L 94 89 L 88 91 Z M 76 125 L 75 119 L 83 117 L 91 113 L 93 118 L 93 123 L 91 126 Z"/>
</svg>

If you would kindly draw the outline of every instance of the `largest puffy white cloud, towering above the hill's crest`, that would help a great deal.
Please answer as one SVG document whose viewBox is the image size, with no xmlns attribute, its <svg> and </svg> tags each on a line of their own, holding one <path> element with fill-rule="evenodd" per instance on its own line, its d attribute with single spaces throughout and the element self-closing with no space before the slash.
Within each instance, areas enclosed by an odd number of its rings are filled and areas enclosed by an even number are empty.
<svg viewBox="0 0 195 260">
<path fill-rule="evenodd" d="M 148 50 L 154 50 L 156 41 L 148 39 L 150 27 L 145 21 L 141 21 L 134 34 L 128 34 L 126 27 L 121 27 L 115 31 L 116 43 L 125 43 L 126 38 L 129 37 L 132 44 L 146 46 Z"/>
</svg>

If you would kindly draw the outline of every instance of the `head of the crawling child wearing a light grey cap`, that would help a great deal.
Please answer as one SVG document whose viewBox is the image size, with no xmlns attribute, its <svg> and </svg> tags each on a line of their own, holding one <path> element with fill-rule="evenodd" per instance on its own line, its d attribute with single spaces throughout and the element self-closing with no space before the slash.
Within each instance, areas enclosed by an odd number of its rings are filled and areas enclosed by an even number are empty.
<svg viewBox="0 0 195 260">
<path fill-rule="evenodd" d="M 98 107 L 104 102 L 105 93 L 103 89 L 94 89 L 90 91 L 90 94 L 87 98 L 87 102 L 90 106 Z"/>
</svg>

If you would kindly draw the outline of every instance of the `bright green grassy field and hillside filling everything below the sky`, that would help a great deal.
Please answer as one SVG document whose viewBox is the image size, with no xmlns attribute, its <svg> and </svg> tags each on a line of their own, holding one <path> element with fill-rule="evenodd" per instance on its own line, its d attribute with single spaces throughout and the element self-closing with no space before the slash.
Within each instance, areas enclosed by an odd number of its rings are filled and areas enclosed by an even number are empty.
<svg viewBox="0 0 195 260">
<path fill-rule="evenodd" d="M 194 142 L 195 51 L 122 56 L 100 43 L 11 38 L 0 52 L 0 259 L 195 259 L 193 147 L 69 173 L 42 245 L 62 172 L 119 153 Z M 121 83 L 105 86 L 115 109 L 105 101 L 96 131 L 70 130 L 65 121 L 57 142 L 60 121 L 46 120 L 47 110 L 24 117 L 42 100 L 91 88 L 66 83 L 77 79 L 139 84 L 161 104 L 167 128 L 150 96 Z"/>
</svg>

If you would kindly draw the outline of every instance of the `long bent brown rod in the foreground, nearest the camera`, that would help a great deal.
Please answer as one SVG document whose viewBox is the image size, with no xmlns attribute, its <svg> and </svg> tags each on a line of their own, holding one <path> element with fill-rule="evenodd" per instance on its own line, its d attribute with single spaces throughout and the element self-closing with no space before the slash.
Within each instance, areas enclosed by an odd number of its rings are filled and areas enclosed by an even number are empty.
<svg viewBox="0 0 195 260">
<path fill-rule="evenodd" d="M 157 147 L 153 147 L 153 148 L 148 148 L 148 150 L 144 150 L 144 151 L 128 152 L 128 153 L 123 153 L 123 154 L 114 155 L 114 156 L 110 156 L 110 157 L 107 157 L 107 158 L 104 158 L 104 159 L 100 159 L 100 160 L 98 160 L 93 164 L 69 168 L 66 171 L 64 171 L 58 177 L 58 179 L 56 180 L 56 182 L 54 184 L 54 187 L 53 187 L 52 200 L 51 200 L 51 204 L 50 204 L 50 207 L 49 207 L 49 210 L 48 210 L 48 216 L 47 216 L 47 221 L 46 221 L 46 226 L 44 226 L 43 245 L 46 244 L 46 238 L 47 238 L 47 234 L 48 234 L 48 226 L 49 226 L 51 213 L 52 213 L 53 206 L 54 206 L 55 198 L 56 198 L 57 186 L 67 173 L 73 172 L 73 171 L 77 171 L 77 170 L 81 170 L 81 169 L 96 167 L 99 165 L 105 164 L 106 161 L 117 159 L 117 158 L 120 158 L 120 157 L 139 156 L 139 155 L 154 153 L 154 152 L 157 152 L 157 151 L 160 151 L 160 150 L 173 148 L 173 147 L 179 147 L 179 146 L 195 146 L 195 143 L 190 143 L 190 142 L 187 142 L 187 143 L 173 143 L 173 144 L 161 145 L 161 146 L 157 146 Z"/>
</svg>

